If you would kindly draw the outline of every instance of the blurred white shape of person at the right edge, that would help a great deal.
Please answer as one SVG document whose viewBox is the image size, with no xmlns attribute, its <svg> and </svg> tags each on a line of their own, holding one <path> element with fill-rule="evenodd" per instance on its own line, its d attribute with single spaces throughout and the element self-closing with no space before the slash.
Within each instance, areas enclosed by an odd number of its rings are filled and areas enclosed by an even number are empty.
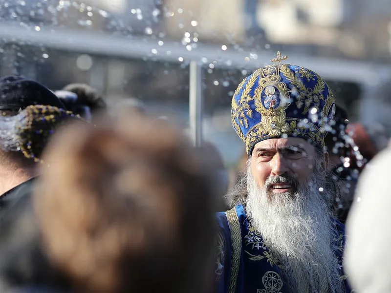
<svg viewBox="0 0 391 293">
<path fill-rule="evenodd" d="M 348 215 L 345 263 L 349 281 L 360 293 L 391 292 L 391 233 L 387 230 L 391 224 L 391 197 L 385 184 L 390 165 L 388 148 L 364 169 Z"/>
</svg>

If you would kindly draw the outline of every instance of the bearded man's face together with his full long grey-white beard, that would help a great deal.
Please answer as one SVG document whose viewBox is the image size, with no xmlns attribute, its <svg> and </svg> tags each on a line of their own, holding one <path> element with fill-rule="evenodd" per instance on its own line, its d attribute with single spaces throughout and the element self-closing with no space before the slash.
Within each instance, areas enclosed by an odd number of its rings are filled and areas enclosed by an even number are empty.
<svg viewBox="0 0 391 293">
<path fill-rule="evenodd" d="M 247 169 L 249 223 L 277 253 L 294 292 L 342 287 L 330 277 L 340 272 L 330 245 L 335 234 L 328 159 L 316 154 L 301 138 L 268 139 L 255 146 Z"/>
</svg>

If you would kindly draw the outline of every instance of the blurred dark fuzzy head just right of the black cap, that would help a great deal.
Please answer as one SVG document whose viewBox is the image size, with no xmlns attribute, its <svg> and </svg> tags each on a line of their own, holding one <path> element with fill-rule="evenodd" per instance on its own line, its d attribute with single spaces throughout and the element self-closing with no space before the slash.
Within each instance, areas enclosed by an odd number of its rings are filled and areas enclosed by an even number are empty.
<svg viewBox="0 0 391 293">
<path fill-rule="evenodd" d="M 98 91 L 88 84 L 68 84 L 62 91 L 72 92 L 77 95 L 77 99 L 63 99 L 63 102 L 67 104 L 68 110 L 75 114 L 80 114 L 89 110 L 89 115 L 94 113 L 105 112 L 107 110 L 107 104 L 104 98 L 98 93 Z M 61 92 L 60 92 L 61 94 Z M 65 96 L 66 97 L 66 96 Z M 88 115 L 88 113 L 86 114 Z"/>
</svg>

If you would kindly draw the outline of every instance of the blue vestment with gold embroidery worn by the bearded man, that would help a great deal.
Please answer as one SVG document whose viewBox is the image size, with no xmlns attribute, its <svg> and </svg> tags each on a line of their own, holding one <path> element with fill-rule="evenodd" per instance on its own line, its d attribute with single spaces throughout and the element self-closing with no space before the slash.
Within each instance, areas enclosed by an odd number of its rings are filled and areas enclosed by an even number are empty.
<svg viewBox="0 0 391 293">
<path fill-rule="evenodd" d="M 217 293 L 293 293 L 281 264 L 266 247 L 261 233 L 248 223 L 242 205 L 217 213 Z M 342 269 L 344 225 L 335 221 L 335 241 L 341 278 L 350 292 Z"/>
</svg>

